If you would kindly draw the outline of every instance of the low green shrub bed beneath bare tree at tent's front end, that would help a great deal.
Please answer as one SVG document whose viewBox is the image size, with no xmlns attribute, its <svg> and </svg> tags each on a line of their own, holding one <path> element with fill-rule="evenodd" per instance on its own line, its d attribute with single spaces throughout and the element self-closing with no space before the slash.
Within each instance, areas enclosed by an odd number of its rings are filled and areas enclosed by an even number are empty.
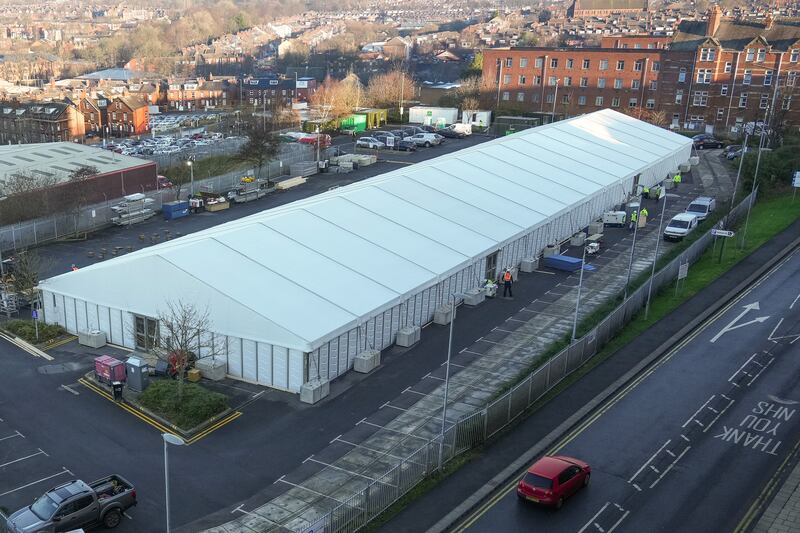
<svg viewBox="0 0 800 533">
<path fill-rule="evenodd" d="M 183 383 L 183 396 L 178 399 L 179 383 L 160 379 L 139 395 L 139 403 L 183 430 L 190 430 L 228 408 L 228 399 L 195 383 Z"/>
</svg>

